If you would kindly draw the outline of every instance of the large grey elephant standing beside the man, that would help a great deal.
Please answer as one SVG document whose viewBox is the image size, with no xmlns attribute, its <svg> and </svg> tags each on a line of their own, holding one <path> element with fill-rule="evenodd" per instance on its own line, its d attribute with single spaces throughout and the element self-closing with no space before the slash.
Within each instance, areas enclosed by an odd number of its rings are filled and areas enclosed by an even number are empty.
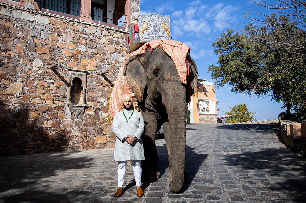
<svg viewBox="0 0 306 203">
<path fill-rule="evenodd" d="M 155 136 L 163 124 L 169 155 L 167 179 L 174 193 L 179 193 L 184 183 L 186 101 L 190 102 L 191 95 L 197 91 L 196 63 L 189 55 L 186 58 L 189 58 L 186 67 L 191 71 L 186 84 L 181 82 L 173 60 L 160 47 L 130 57 L 123 71 L 129 88 L 136 93 L 145 122 L 143 179 L 157 180 L 160 177 Z"/>
</svg>

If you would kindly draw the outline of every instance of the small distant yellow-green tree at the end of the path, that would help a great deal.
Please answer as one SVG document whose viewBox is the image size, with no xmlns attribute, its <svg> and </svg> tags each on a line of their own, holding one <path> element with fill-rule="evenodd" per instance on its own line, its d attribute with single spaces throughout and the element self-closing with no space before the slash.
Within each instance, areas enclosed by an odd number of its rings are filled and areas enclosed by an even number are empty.
<svg viewBox="0 0 306 203">
<path fill-rule="evenodd" d="M 233 115 L 230 118 L 226 118 L 225 123 L 238 123 L 246 121 L 256 121 L 255 112 L 249 112 L 246 104 L 237 104 L 234 107 L 230 107 L 230 112 L 223 111 L 227 115 Z"/>
</svg>

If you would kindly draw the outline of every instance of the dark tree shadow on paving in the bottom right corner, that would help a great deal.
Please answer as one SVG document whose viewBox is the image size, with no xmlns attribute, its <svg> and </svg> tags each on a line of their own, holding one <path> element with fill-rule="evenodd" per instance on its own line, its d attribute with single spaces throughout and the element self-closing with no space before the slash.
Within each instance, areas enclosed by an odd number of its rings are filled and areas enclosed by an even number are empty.
<svg viewBox="0 0 306 203">
<path fill-rule="evenodd" d="M 288 195 L 288 198 L 293 198 L 296 202 L 305 202 L 305 159 L 303 156 L 295 154 L 289 148 L 285 150 L 284 148 L 271 148 L 260 152 L 225 155 L 226 165 L 238 167 L 246 171 L 263 170 L 267 172 L 268 176 L 278 180 L 275 183 L 270 183 L 267 182 L 268 179 L 264 179 L 264 174 L 256 174 L 261 178 L 259 180 L 262 180 L 259 183 L 265 186 L 255 187 L 255 189 L 263 192 L 282 190 L 284 194 Z M 253 178 L 256 179 L 256 177 Z M 241 182 L 243 183 L 244 180 L 241 179 Z"/>
</svg>

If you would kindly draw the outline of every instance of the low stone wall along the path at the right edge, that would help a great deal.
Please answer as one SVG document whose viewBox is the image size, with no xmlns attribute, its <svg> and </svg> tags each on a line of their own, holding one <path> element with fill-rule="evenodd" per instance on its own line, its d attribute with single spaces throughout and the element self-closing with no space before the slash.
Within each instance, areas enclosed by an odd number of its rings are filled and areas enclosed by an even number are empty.
<svg viewBox="0 0 306 203">
<path fill-rule="evenodd" d="M 284 141 L 285 145 L 297 153 L 306 156 L 306 137 L 302 136 L 290 136 L 290 124 L 296 123 L 290 120 L 281 120 L 279 133 Z"/>
</svg>

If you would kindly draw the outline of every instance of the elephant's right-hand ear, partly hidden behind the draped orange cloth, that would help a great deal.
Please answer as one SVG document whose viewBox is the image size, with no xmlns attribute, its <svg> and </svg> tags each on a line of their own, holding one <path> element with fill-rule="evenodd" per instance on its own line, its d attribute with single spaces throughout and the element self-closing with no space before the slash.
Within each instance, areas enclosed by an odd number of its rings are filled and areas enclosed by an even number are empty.
<svg viewBox="0 0 306 203">
<path fill-rule="evenodd" d="M 198 90 L 198 68 L 196 67 L 196 63 L 190 57 L 190 65 L 191 65 L 191 75 L 187 77 L 187 86 L 186 86 L 186 101 L 189 103 L 191 96 L 197 92 Z M 188 67 L 188 63 L 186 62 L 186 66 Z M 189 85 L 190 84 L 190 85 Z"/>
</svg>

